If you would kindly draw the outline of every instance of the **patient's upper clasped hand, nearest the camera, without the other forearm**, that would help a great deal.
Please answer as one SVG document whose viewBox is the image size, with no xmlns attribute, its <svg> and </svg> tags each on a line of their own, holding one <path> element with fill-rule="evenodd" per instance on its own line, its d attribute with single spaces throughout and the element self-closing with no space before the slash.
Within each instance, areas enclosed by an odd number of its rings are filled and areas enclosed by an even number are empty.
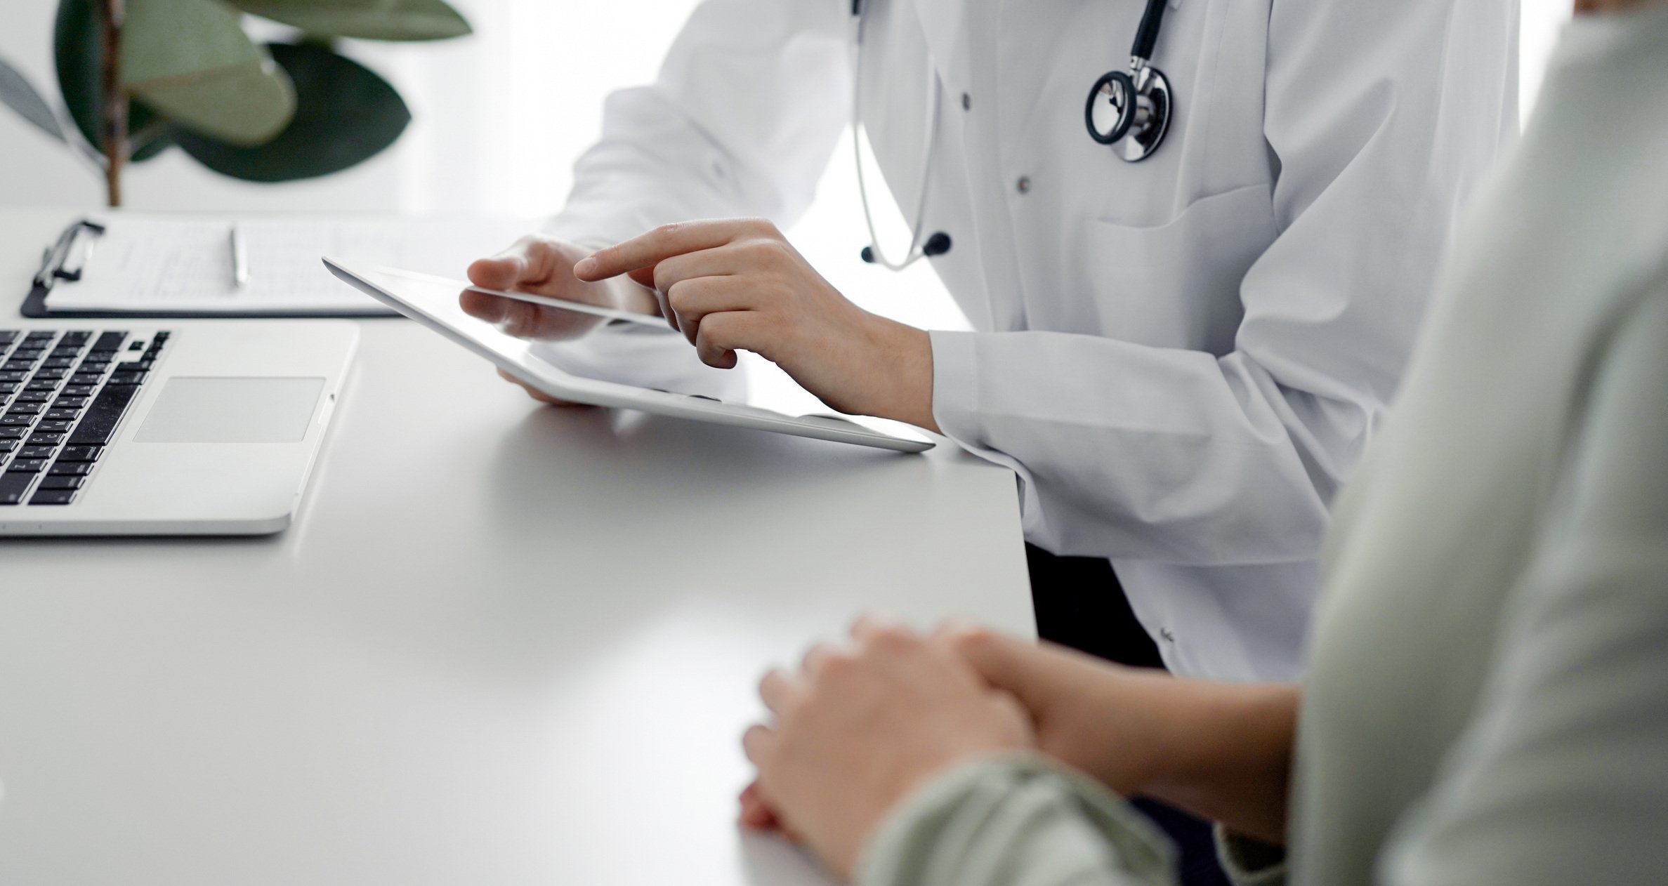
<svg viewBox="0 0 1668 886">
<path fill-rule="evenodd" d="M 771 819 L 749 824 L 781 826 L 842 878 L 912 789 L 959 763 L 1032 746 L 1012 696 L 946 644 L 876 619 L 859 621 L 852 639 L 851 649 L 811 649 L 794 672 L 766 674 L 759 696 L 774 721 L 742 736 L 759 771 L 756 814 Z"/>
</svg>

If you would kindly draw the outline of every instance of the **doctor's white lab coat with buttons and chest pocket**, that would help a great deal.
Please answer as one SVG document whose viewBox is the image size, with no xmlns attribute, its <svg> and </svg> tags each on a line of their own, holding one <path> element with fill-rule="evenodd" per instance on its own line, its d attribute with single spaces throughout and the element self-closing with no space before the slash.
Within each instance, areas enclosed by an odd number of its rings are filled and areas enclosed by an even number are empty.
<svg viewBox="0 0 1668 886">
<path fill-rule="evenodd" d="M 1124 164 L 1083 103 L 1143 7 L 871 0 L 866 125 L 912 207 L 941 90 L 926 230 L 951 234 L 932 265 L 976 327 L 932 334 L 944 432 L 1019 474 L 1027 539 L 1114 561 L 1171 669 L 1288 679 L 1329 502 L 1516 133 L 1516 0 L 1171 0 L 1154 63 L 1179 110 Z M 849 8 L 702 3 L 657 82 L 609 98 L 550 230 L 796 219 L 849 115 Z M 614 374 L 699 374 L 649 350 Z"/>
</svg>

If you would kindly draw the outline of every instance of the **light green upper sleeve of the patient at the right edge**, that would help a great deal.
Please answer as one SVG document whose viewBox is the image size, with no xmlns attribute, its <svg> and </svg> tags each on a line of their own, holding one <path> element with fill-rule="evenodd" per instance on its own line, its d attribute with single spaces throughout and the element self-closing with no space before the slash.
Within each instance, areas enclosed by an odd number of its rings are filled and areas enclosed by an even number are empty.
<svg viewBox="0 0 1668 886">
<path fill-rule="evenodd" d="M 1475 719 L 1379 856 L 1384 884 L 1668 871 L 1668 285 L 1596 354 L 1556 519 L 1503 614 Z"/>
</svg>

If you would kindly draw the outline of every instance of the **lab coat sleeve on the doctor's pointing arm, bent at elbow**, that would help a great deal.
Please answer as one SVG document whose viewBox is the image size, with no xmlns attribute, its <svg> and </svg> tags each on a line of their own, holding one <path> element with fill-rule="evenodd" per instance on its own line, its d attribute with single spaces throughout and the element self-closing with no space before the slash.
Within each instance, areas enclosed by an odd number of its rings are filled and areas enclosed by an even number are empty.
<svg viewBox="0 0 1668 886">
<path fill-rule="evenodd" d="M 1318 556 L 1461 197 L 1516 132 L 1515 33 L 1505 0 L 1274 0 L 1278 235 L 1241 282 L 1231 352 L 932 335 L 934 417 L 1019 474 L 1031 541 L 1194 566 Z"/>
</svg>

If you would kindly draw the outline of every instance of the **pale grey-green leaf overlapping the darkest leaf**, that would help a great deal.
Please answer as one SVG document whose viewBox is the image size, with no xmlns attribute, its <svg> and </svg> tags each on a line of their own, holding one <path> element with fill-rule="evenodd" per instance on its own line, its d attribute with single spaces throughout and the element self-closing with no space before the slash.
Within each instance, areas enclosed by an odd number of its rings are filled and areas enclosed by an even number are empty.
<svg viewBox="0 0 1668 886">
<path fill-rule="evenodd" d="M 235 145 L 272 140 L 295 113 L 289 77 L 217 0 L 128 0 L 122 85 L 182 127 Z"/>
</svg>

